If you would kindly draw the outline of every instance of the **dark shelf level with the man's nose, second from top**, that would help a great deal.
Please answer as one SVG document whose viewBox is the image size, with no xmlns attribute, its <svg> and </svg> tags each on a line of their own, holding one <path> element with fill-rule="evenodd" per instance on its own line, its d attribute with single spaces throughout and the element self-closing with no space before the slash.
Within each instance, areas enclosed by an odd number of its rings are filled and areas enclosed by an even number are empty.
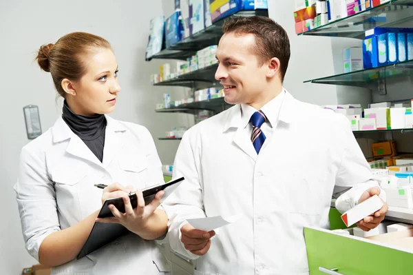
<svg viewBox="0 0 413 275">
<path fill-rule="evenodd" d="M 187 72 L 181 74 L 173 79 L 168 79 L 158 83 L 154 83 L 154 86 L 183 86 L 189 88 L 196 88 L 201 90 L 204 88 L 210 88 L 211 86 L 218 85 L 215 81 L 215 72 L 218 69 L 218 64 L 209 65 L 205 68 Z"/>
</svg>

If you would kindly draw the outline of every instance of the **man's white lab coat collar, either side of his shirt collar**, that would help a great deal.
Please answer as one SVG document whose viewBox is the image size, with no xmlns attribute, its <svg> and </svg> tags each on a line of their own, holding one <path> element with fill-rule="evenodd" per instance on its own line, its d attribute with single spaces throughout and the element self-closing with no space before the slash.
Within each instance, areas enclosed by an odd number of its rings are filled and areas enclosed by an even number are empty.
<svg viewBox="0 0 413 275">
<path fill-rule="evenodd" d="M 287 92 L 287 90 L 283 89 L 283 91 L 285 91 L 284 100 L 282 101 L 281 108 L 279 110 L 278 120 L 285 123 L 291 123 L 295 119 L 295 114 L 297 114 L 296 109 L 298 108 L 298 101 L 289 92 Z M 230 108 L 229 112 L 227 112 L 225 121 L 226 123 L 224 123 L 222 132 L 226 132 L 230 128 L 245 128 L 246 123 L 244 123 L 244 120 L 242 119 L 242 105 L 237 104 Z"/>
</svg>

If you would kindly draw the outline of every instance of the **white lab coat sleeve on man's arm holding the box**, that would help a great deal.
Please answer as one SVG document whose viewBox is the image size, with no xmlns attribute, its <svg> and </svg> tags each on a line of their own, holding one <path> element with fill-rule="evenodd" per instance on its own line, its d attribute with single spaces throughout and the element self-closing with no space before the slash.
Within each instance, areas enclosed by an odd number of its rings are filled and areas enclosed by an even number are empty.
<svg viewBox="0 0 413 275">
<path fill-rule="evenodd" d="M 345 116 L 337 114 L 339 129 L 337 133 L 337 147 L 343 148 L 343 158 L 336 175 L 333 196 L 338 197 L 335 207 L 344 213 L 357 205 L 361 194 L 370 187 L 379 186 L 374 180 L 370 166 L 361 152 L 360 146 L 354 138 L 350 122 Z M 381 190 L 379 195 L 385 201 L 385 192 Z"/>
</svg>

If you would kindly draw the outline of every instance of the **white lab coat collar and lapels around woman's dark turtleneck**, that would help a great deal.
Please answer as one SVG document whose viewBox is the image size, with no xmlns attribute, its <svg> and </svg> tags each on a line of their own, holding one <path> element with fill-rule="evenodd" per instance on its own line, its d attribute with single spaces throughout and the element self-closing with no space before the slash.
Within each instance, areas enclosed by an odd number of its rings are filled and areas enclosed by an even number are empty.
<svg viewBox="0 0 413 275">
<path fill-rule="evenodd" d="M 69 145 L 67 145 L 66 152 L 78 156 L 87 161 L 92 161 L 99 166 L 107 166 L 114 156 L 123 147 L 122 141 L 116 136 L 116 132 L 124 132 L 127 130 L 119 121 L 112 119 L 110 116 L 105 115 L 107 125 L 105 132 L 105 146 L 103 148 L 103 162 L 96 158 L 87 145 L 76 135 L 69 126 L 65 123 L 62 117 L 57 119 L 52 127 L 53 143 L 58 143 L 70 139 Z"/>
</svg>

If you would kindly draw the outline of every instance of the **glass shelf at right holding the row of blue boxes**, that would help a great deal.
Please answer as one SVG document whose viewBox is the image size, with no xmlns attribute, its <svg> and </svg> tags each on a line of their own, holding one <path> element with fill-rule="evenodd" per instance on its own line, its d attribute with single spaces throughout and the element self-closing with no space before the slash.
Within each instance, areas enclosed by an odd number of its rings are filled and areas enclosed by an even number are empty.
<svg viewBox="0 0 413 275">
<path fill-rule="evenodd" d="M 412 8 L 413 10 L 413 8 Z M 372 83 L 379 83 L 382 79 L 394 79 L 401 77 L 413 77 L 413 60 L 384 65 L 367 70 L 347 72 L 330 77 L 321 77 L 304 81 L 304 83 L 347 85 L 369 88 Z"/>
</svg>

